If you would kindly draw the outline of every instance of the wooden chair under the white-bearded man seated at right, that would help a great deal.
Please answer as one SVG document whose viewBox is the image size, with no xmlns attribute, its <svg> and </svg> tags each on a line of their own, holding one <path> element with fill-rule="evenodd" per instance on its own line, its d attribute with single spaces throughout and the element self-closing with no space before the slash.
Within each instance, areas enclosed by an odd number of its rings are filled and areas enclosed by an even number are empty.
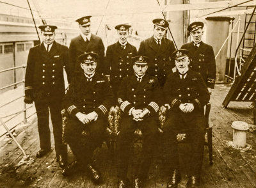
<svg viewBox="0 0 256 188">
<path fill-rule="evenodd" d="M 211 103 L 208 102 L 205 105 L 205 111 L 204 111 L 204 116 L 205 116 L 205 134 L 207 134 L 207 141 L 205 141 L 205 145 L 208 146 L 208 151 L 209 151 L 209 164 L 213 164 L 212 161 L 212 127 L 209 126 L 209 113 L 211 110 Z M 161 127 L 164 126 L 164 122 L 166 120 L 166 108 L 165 107 L 161 107 L 161 109 L 159 110 L 159 120 L 161 122 Z M 188 134 L 189 132 L 191 132 L 191 129 L 182 129 L 179 130 L 179 134 Z M 179 140 L 179 143 L 188 143 L 189 142 L 189 138 L 187 139 L 184 136 L 180 136 L 178 134 L 177 139 Z"/>
</svg>

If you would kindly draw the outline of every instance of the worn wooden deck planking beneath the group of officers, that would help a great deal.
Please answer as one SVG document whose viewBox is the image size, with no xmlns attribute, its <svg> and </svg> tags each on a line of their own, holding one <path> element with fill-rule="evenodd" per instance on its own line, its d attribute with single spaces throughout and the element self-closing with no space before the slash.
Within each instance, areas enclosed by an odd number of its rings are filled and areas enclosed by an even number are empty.
<svg viewBox="0 0 256 188">
<path fill-rule="evenodd" d="M 205 147 L 201 187 L 256 187 L 255 134 L 248 132 L 247 143 L 252 145 L 252 151 L 250 152 L 239 152 L 234 148 L 228 147 L 226 144 L 226 141 L 232 140 L 232 128 L 230 127 L 232 121 L 253 122 L 252 109 L 248 107 L 250 105 L 248 102 L 230 102 L 227 109 L 221 107 L 223 97 L 228 93 L 229 88 L 227 85 L 216 85 L 211 98 L 210 125 L 213 127 L 214 164 L 213 166 L 209 165 L 208 150 Z M 28 166 L 15 167 L 22 158 L 22 152 L 20 152 L 14 142 L 11 145 L 2 145 L 0 152 L 0 187 L 116 187 L 118 180 L 116 177 L 116 166 L 113 165 L 106 145 L 97 150 L 95 155 L 104 178 L 104 184 L 95 185 L 86 173 L 77 173 L 71 177 L 63 177 L 61 175 L 61 168 L 58 167 L 56 162 L 54 151 L 46 157 L 36 159 L 35 154 L 39 149 L 39 141 L 35 121 L 25 133 L 19 134 L 17 139 L 19 143 L 22 143 L 26 152 L 35 159 L 35 162 Z M 180 147 L 181 152 L 184 147 L 186 145 Z M 181 155 L 182 182 L 179 184 L 180 188 L 186 187 L 188 178 L 188 171 L 184 167 L 188 163 L 186 152 L 184 153 L 183 151 Z M 71 161 L 70 158 L 73 156 L 70 150 L 68 157 L 68 160 Z M 48 164 L 46 164 L 47 162 Z M 4 167 L 4 165 L 6 166 Z M 150 179 L 146 184 L 147 188 L 166 187 L 168 175 L 164 173 L 163 166 L 164 164 L 160 160 L 153 162 L 150 169 Z"/>
</svg>

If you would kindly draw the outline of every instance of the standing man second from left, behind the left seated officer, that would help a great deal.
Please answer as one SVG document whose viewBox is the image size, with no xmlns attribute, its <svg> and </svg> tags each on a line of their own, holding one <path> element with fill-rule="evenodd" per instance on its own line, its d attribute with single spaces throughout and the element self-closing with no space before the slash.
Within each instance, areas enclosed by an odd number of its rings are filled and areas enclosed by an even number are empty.
<svg viewBox="0 0 256 188">
<path fill-rule="evenodd" d="M 97 72 L 102 73 L 103 63 L 104 63 L 104 45 L 99 36 L 93 35 L 91 33 L 91 21 L 90 17 L 86 16 L 77 19 L 76 22 L 79 24 L 79 28 L 81 30 L 81 35 L 76 36 L 70 42 L 69 52 L 70 58 L 72 61 L 72 76 L 74 72 L 83 72 L 80 68 L 80 62 L 77 61 L 79 55 L 83 54 L 84 52 L 95 52 L 99 54 L 99 61 L 97 65 Z"/>
</svg>

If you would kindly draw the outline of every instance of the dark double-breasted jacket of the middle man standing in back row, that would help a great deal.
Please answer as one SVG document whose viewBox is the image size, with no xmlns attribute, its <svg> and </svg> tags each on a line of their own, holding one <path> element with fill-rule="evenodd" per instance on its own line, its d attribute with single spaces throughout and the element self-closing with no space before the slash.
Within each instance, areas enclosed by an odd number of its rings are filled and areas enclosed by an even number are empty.
<svg viewBox="0 0 256 188">
<path fill-rule="evenodd" d="M 110 82 L 113 92 L 116 94 L 123 77 L 133 74 L 132 57 L 136 56 L 136 47 L 127 42 L 125 49 L 116 42 L 108 46 L 105 58 L 106 75 L 110 75 Z"/>
</svg>

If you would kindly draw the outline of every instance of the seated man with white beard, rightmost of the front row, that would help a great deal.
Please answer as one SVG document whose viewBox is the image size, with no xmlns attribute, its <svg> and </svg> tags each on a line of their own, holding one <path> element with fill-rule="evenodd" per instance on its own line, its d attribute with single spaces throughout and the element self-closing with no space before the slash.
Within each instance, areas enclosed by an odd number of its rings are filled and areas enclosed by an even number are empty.
<svg viewBox="0 0 256 188">
<path fill-rule="evenodd" d="M 164 148 L 166 168 L 170 170 L 167 187 L 177 187 L 181 176 L 177 134 L 180 129 L 191 129 L 192 157 L 187 187 L 197 187 L 204 157 L 205 117 L 204 106 L 210 95 L 202 76 L 190 70 L 189 51 L 179 50 L 172 54 L 177 72 L 170 74 L 164 84 L 164 100 L 168 104 L 164 124 Z"/>
</svg>

